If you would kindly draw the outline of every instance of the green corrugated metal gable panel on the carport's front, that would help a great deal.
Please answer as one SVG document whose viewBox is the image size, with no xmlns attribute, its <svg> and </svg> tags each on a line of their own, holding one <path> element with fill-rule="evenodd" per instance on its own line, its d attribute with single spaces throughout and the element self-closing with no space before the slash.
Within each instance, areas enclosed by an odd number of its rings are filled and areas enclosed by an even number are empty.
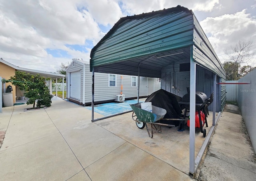
<svg viewBox="0 0 256 181">
<path fill-rule="evenodd" d="M 92 67 L 192 45 L 193 16 L 187 8 L 170 8 L 121 18 L 92 49 Z"/>
</svg>

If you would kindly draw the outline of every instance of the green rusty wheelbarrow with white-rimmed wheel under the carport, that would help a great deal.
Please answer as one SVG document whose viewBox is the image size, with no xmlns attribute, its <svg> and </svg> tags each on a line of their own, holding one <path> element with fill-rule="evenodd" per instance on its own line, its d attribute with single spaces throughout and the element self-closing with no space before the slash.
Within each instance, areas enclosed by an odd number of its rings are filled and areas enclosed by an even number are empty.
<svg viewBox="0 0 256 181">
<path fill-rule="evenodd" d="M 140 103 L 130 104 L 130 106 L 132 107 L 132 110 L 133 110 L 132 119 L 136 121 L 136 125 L 138 128 L 143 129 L 146 126 L 146 129 L 148 131 L 148 136 L 150 138 L 152 138 L 153 134 L 156 132 L 162 133 L 161 125 L 175 127 L 175 125 L 157 122 L 160 119 L 162 119 L 166 114 L 166 110 L 161 107 L 156 107 L 152 105 L 152 112 L 150 112 L 150 111 L 141 109 Z M 164 119 L 164 120 L 183 121 L 184 119 Z M 151 130 L 148 129 L 148 126 L 146 123 L 151 124 Z"/>
</svg>

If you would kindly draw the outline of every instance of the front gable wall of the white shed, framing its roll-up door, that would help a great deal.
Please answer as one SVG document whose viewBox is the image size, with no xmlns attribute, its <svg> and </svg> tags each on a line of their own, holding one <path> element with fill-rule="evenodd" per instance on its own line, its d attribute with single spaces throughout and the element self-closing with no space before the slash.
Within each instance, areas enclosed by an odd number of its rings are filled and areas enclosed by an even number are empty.
<svg viewBox="0 0 256 181">
<path fill-rule="evenodd" d="M 72 65 L 73 62 L 71 62 L 70 66 L 67 68 L 66 70 L 66 85 L 67 85 L 67 88 L 66 88 L 66 97 L 67 98 L 70 98 L 70 73 L 71 72 L 77 72 L 77 71 L 80 71 L 80 74 L 81 74 L 81 86 L 80 86 L 80 100 L 82 101 L 83 100 L 83 97 L 82 97 L 82 88 L 83 88 L 83 72 L 81 70 L 83 70 L 83 65 L 82 64 L 79 64 L 78 62 L 75 62 L 74 61 L 74 66 Z M 80 101 L 78 100 L 78 101 Z"/>
</svg>

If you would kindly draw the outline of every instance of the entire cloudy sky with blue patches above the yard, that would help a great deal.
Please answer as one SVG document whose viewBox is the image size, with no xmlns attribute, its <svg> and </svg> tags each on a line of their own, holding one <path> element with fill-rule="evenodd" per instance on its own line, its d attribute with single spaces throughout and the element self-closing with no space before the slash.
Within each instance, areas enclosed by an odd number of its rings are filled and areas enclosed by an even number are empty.
<svg viewBox="0 0 256 181">
<path fill-rule="evenodd" d="M 121 17 L 178 4 L 194 12 L 222 62 L 239 40 L 256 44 L 256 0 L 0 0 L 1 58 L 48 72 L 72 58 L 89 62 L 91 49 Z"/>
</svg>

